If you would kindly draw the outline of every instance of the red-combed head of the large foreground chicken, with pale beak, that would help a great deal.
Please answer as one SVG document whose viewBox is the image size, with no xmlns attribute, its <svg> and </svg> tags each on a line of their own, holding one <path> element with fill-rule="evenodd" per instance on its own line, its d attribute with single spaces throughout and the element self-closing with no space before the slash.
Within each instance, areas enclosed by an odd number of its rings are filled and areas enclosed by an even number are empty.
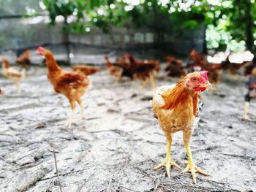
<svg viewBox="0 0 256 192">
<path fill-rule="evenodd" d="M 208 81 L 207 71 L 193 72 L 187 74 L 185 77 L 185 83 L 188 88 L 194 91 L 206 91 L 211 89 L 211 83 Z"/>
</svg>

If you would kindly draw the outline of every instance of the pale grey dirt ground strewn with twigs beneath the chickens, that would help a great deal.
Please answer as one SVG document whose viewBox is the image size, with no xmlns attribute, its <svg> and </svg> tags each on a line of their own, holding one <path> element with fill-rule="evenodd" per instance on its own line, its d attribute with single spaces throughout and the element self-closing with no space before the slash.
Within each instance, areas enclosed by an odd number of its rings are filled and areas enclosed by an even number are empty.
<svg viewBox="0 0 256 192">
<path fill-rule="evenodd" d="M 160 74 L 157 85 L 176 81 Z M 238 120 L 243 81 L 225 80 L 217 94 L 203 94 L 191 147 L 195 164 L 211 175 L 197 174 L 194 185 L 178 169 L 170 178 L 152 170 L 165 158 L 165 136 L 151 110 L 154 91 L 140 91 L 140 82 L 113 84 L 106 70 L 91 76 L 86 120 L 67 128 L 69 103 L 54 93 L 45 68 L 29 70 L 20 94 L 1 77 L 0 191 L 60 191 L 54 151 L 62 191 L 255 191 L 256 126 Z M 184 169 L 181 132 L 173 137 L 171 154 Z"/>
</svg>

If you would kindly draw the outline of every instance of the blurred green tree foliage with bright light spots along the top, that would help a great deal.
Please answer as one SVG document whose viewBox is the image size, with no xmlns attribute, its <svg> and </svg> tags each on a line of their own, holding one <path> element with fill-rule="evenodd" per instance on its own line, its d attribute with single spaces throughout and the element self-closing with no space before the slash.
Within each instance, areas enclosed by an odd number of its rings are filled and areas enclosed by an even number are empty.
<svg viewBox="0 0 256 192">
<path fill-rule="evenodd" d="M 227 45 L 246 42 L 252 49 L 256 38 L 255 0 L 209 0 L 178 1 L 162 4 L 159 0 L 141 0 L 132 5 L 126 0 L 43 0 L 49 12 L 50 22 L 62 15 L 66 25 L 64 31 L 91 32 L 91 26 L 109 33 L 113 26 L 151 27 L 159 31 L 178 31 L 177 34 L 202 26 L 206 30 L 208 48 L 223 50 Z M 67 23 L 69 16 L 76 21 Z M 208 33 L 208 34 L 207 34 Z M 244 45 L 241 45 L 243 47 Z M 239 46 L 236 46 L 239 47 Z"/>
</svg>

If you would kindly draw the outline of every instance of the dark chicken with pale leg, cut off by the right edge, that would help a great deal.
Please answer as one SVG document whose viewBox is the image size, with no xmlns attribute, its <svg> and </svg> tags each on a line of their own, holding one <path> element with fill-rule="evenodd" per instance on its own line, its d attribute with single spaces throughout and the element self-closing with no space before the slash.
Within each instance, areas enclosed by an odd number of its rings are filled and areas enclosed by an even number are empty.
<svg viewBox="0 0 256 192">
<path fill-rule="evenodd" d="M 247 93 L 244 97 L 245 99 L 245 104 L 244 104 L 244 114 L 243 116 L 240 117 L 241 120 L 252 120 L 248 117 L 247 113 L 249 111 L 249 102 L 251 99 L 256 98 L 256 67 L 252 69 L 252 74 L 246 80 L 245 82 Z"/>
</svg>

